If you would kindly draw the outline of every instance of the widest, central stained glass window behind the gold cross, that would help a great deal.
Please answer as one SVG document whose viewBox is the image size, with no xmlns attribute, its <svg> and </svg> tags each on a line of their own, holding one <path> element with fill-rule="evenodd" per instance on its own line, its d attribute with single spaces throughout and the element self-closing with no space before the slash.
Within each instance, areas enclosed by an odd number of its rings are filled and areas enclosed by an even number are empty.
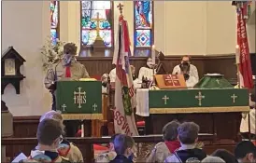
<svg viewBox="0 0 256 163">
<path fill-rule="evenodd" d="M 97 37 L 103 39 L 105 46 L 113 45 L 111 1 L 81 1 L 81 45 L 91 47 Z"/>
</svg>

